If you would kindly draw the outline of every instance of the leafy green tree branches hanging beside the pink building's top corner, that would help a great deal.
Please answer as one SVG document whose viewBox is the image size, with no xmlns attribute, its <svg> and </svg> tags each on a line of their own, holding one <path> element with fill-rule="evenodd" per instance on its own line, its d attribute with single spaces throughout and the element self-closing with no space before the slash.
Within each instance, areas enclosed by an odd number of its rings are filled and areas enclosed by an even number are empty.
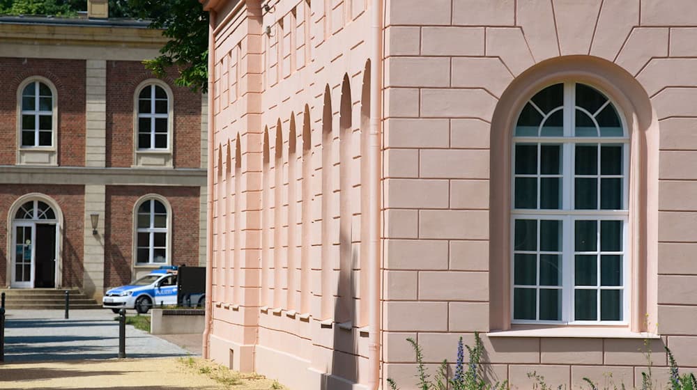
<svg viewBox="0 0 697 390">
<path fill-rule="evenodd" d="M 155 76 L 162 77 L 174 66 L 178 86 L 192 91 L 208 89 L 208 13 L 197 0 L 128 0 L 135 16 L 152 21 L 151 28 L 163 29 L 169 38 L 160 56 L 144 61 Z"/>
</svg>

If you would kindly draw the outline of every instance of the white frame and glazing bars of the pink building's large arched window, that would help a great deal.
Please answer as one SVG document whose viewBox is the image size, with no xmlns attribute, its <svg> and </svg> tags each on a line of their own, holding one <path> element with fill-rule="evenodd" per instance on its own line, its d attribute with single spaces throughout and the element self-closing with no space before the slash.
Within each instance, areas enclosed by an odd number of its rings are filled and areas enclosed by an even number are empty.
<svg viewBox="0 0 697 390">
<path fill-rule="evenodd" d="M 528 100 L 525 100 L 523 103 L 523 106 L 527 102 L 532 102 L 531 98 L 539 91 L 542 91 L 544 88 L 555 85 L 555 84 L 564 84 L 564 94 L 563 94 L 563 110 L 564 110 L 564 116 L 563 116 L 563 129 L 564 129 L 564 137 L 516 137 L 515 136 L 515 128 L 513 129 L 513 137 L 512 137 L 512 143 L 511 143 L 511 205 L 510 205 L 510 210 L 511 210 L 511 218 L 510 218 L 510 315 L 511 315 L 511 323 L 512 324 L 520 324 L 520 325 L 628 325 L 629 321 L 631 320 L 631 311 L 630 311 L 630 304 L 631 304 L 631 253 L 630 253 L 630 245 L 629 245 L 629 151 L 630 151 L 630 146 L 629 146 L 629 134 L 627 131 L 627 122 L 622 115 L 622 112 L 618 109 L 618 104 L 616 104 L 610 95 L 608 93 L 604 92 L 602 88 L 598 88 L 595 85 L 588 84 L 588 83 L 577 83 L 576 81 L 563 81 L 563 82 L 555 82 L 549 85 L 542 86 L 542 88 L 538 88 L 535 93 L 530 95 L 530 98 Z M 608 103 L 606 104 L 613 104 L 613 107 L 615 108 L 615 111 L 617 112 L 619 119 L 620 119 L 620 125 L 622 126 L 622 132 L 624 135 L 622 137 L 600 137 L 600 134 L 598 134 L 598 137 L 574 137 L 572 134 L 574 127 L 575 127 L 575 112 L 576 112 L 576 93 L 575 93 L 575 85 L 576 84 L 585 84 L 587 86 L 591 86 L 592 88 L 595 88 L 597 91 L 602 93 L 606 98 L 608 98 Z M 603 106 L 605 107 L 605 105 Z M 602 107 L 602 108 L 603 108 Z M 538 111 L 540 111 L 537 107 L 535 107 Z M 578 107 L 581 109 L 581 107 Z M 601 108 L 601 109 L 602 109 Z M 522 111 L 523 107 L 521 107 L 520 111 Z M 599 112 L 601 109 L 599 109 L 597 112 Z M 549 112 L 549 115 L 553 114 L 556 109 L 552 109 Z M 544 125 L 544 120 L 546 119 L 546 116 L 542 111 L 540 111 L 540 114 L 542 114 L 543 119 L 540 122 L 540 126 Z M 597 114 L 597 113 L 596 113 Z M 549 116 L 548 115 L 548 116 Z M 592 114 L 591 114 L 592 115 Z M 517 118 L 517 116 L 516 116 Z M 516 120 L 517 123 L 517 120 Z M 515 123 L 514 123 L 515 127 Z M 562 164 L 562 205 L 561 208 L 558 210 L 546 210 L 546 209 L 539 209 L 539 196 L 537 198 L 538 201 L 538 208 L 537 209 L 516 209 L 515 207 L 515 162 L 516 162 L 516 156 L 515 156 L 515 148 L 516 144 L 519 143 L 531 143 L 531 144 L 552 144 L 552 145 L 561 145 L 562 146 L 562 159 L 561 159 L 561 164 Z M 575 148 L 574 146 L 576 144 L 583 144 L 583 143 L 590 143 L 590 144 L 622 144 L 622 210 L 575 210 L 573 201 L 574 201 L 574 193 L 575 193 L 575 188 L 574 188 L 574 162 L 575 162 Z M 539 146 L 538 146 L 539 150 Z M 598 159 L 600 159 L 600 155 L 598 154 Z M 537 153 L 537 166 L 538 166 L 538 171 L 540 171 L 540 153 Z M 600 169 L 600 165 L 598 165 L 598 169 Z M 524 176 L 524 175 L 523 175 Z M 532 176 L 532 175 L 531 175 Z M 535 175 L 535 177 L 540 178 L 542 177 L 541 174 Z M 597 176 L 598 178 L 600 177 Z M 603 176 L 606 177 L 606 176 Z M 537 180 L 537 194 L 539 195 L 539 183 L 541 180 Z M 598 180 L 597 184 L 597 191 L 600 192 L 600 181 Z M 598 194 L 597 197 L 597 202 L 600 204 L 600 194 Z M 562 290 L 562 313 L 561 313 L 561 319 L 558 321 L 550 321 L 550 320 L 516 320 L 514 317 L 514 292 L 516 285 L 514 284 L 514 276 L 515 276 L 515 262 L 514 262 L 514 253 L 515 251 L 515 221 L 518 219 L 535 219 L 537 220 L 537 251 L 536 253 L 540 253 L 539 249 L 539 221 L 540 220 L 560 220 L 562 221 L 562 282 L 561 282 L 561 290 Z M 612 290 L 622 290 L 622 320 L 619 321 L 602 321 L 602 320 L 574 320 L 575 318 L 575 305 L 574 305 L 574 290 L 577 289 L 576 286 L 574 286 L 574 279 L 575 279 L 575 267 L 574 267 L 574 234 L 569 233 L 572 232 L 574 229 L 574 221 L 576 220 L 583 220 L 583 219 L 588 219 L 588 220 L 596 220 L 596 221 L 602 221 L 602 220 L 620 220 L 622 221 L 622 288 L 618 287 L 611 287 L 608 289 Z M 600 242 L 599 242 L 599 237 L 600 237 L 600 231 L 598 229 L 598 241 L 597 241 L 597 254 L 601 253 L 600 251 Z M 604 252 L 603 252 L 604 253 Z M 539 256 L 538 256 L 539 258 Z M 600 256 L 598 256 L 598 261 L 599 261 Z M 537 285 L 535 288 L 539 290 L 539 260 L 537 261 Z M 597 268 L 599 270 L 599 267 Z M 565 270 L 569 270 L 568 272 Z M 605 288 L 600 286 L 600 279 L 601 275 L 598 273 L 597 274 L 597 287 L 596 286 L 581 286 L 579 289 L 593 289 L 593 290 L 604 290 Z M 523 286 L 520 286 L 523 287 Z M 525 288 L 533 288 L 532 285 L 525 285 Z M 539 317 L 539 293 L 537 294 L 536 298 L 536 317 Z M 600 311 L 599 311 L 599 299 L 600 299 L 600 293 L 598 292 L 597 294 L 597 299 L 598 299 L 598 304 L 597 304 L 597 318 L 600 318 Z"/>
</svg>

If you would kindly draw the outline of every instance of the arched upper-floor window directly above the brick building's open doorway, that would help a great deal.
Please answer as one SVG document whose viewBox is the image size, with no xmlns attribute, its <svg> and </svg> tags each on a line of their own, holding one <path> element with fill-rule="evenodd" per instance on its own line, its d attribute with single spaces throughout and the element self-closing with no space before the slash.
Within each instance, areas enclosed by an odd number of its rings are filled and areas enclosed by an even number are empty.
<svg viewBox="0 0 697 390">
<path fill-rule="evenodd" d="M 20 146 L 54 145 L 54 91 L 44 81 L 31 80 L 22 88 Z"/>
</svg>

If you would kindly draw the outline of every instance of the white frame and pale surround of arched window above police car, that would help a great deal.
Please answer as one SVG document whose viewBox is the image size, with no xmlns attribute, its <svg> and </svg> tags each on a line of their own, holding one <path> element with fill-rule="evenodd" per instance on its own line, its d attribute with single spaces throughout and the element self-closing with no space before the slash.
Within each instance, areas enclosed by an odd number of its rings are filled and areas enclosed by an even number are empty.
<svg viewBox="0 0 697 390">
<path fill-rule="evenodd" d="M 150 218 L 149 226 L 147 228 L 140 228 L 138 226 L 138 210 L 141 205 L 146 202 L 158 201 L 164 205 L 164 210 L 167 211 L 167 225 L 164 228 L 155 228 L 153 226 L 155 221 L 155 208 L 154 203 L 151 204 L 150 208 Z M 143 196 L 135 203 L 135 208 L 133 209 L 133 245 L 132 245 L 132 257 L 133 264 L 135 267 L 160 267 L 160 265 L 171 265 L 171 226 L 172 226 L 172 211 L 171 205 L 166 198 L 157 194 L 148 194 Z M 148 243 L 148 262 L 138 261 L 138 233 L 148 233 L 149 243 Z M 153 251 L 155 249 L 155 234 L 154 233 L 165 233 L 165 259 L 163 263 L 155 263 L 153 261 Z M 158 247 L 160 248 L 160 247 Z"/>
</svg>

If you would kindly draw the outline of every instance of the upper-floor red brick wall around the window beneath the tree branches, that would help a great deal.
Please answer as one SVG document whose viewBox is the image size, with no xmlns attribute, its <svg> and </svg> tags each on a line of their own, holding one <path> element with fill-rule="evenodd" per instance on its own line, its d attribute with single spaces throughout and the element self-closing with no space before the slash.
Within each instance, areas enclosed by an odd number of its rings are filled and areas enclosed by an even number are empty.
<svg viewBox="0 0 697 390">
<path fill-rule="evenodd" d="M 133 164 L 133 95 L 153 74 L 137 61 L 107 61 L 107 166 Z M 174 86 L 176 71 L 166 82 L 174 91 L 174 166 L 201 164 L 201 94 Z"/>
</svg>

